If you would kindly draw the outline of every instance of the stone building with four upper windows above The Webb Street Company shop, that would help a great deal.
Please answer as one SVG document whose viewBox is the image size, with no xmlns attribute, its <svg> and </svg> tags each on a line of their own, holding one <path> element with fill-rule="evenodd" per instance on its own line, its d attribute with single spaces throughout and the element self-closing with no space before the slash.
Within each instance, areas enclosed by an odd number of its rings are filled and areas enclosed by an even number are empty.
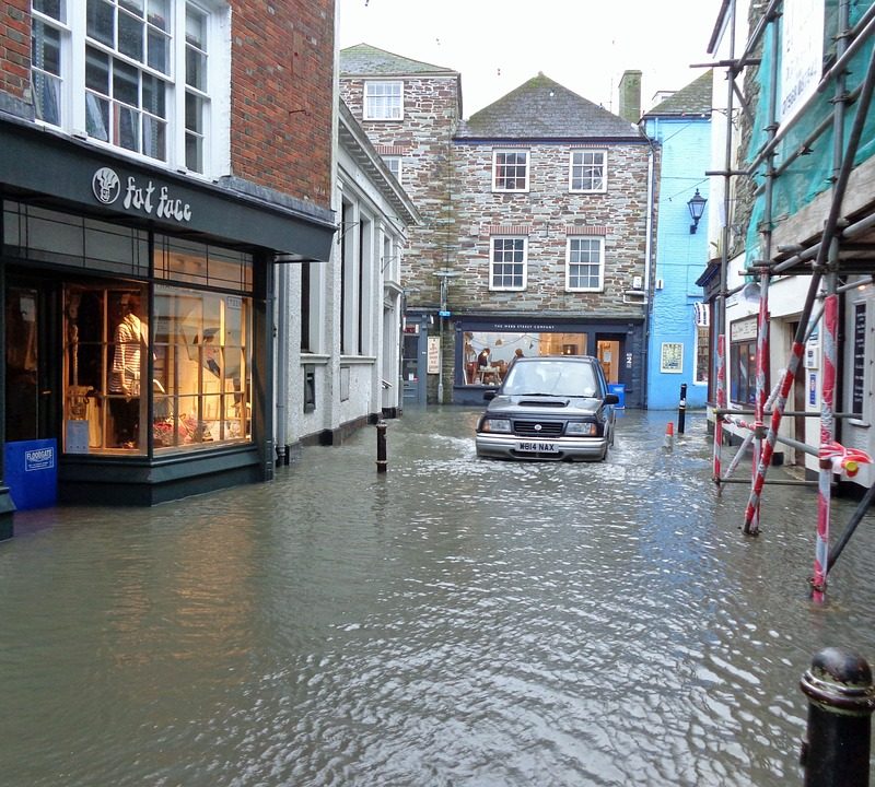
<svg viewBox="0 0 875 787">
<path fill-rule="evenodd" d="M 648 140 L 538 74 L 460 124 L 454 154 L 453 400 L 479 401 L 518 350 L 595 355 L 626 401 L 640 406 Z M 471 360 L 485 346 L 494 374 Z"/>
</svg>

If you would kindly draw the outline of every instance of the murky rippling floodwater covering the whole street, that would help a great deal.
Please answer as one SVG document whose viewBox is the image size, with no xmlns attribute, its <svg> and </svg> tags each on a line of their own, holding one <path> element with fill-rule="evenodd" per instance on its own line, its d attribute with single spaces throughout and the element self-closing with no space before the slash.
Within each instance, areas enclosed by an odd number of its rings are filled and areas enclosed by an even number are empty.
<svg viewBox="0 0 875 787">
<path fill-rule="evenodd" d="M 872 516 L 815 606 L 815 492 L 742 535 L 703 414 L 668 450 L 629 411 L 602 465 L 478 460 L 476 415 L 388 422 L 385 474 L 368 427 L 270 484 L 16 515 L 0 783 L 802 784 L 812 656 L 875 658 Z"/>
</svg>

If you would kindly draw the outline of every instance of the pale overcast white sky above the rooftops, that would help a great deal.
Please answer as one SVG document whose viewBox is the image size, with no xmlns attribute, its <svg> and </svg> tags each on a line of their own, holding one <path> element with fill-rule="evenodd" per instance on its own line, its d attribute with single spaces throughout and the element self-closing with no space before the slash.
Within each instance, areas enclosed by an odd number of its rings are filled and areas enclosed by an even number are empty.
<svg viewBox="0 0 875 787">
<path fill-rule="evenodd" d="M 462 74 L 464 116 L 542 72 L 617 111 L 626 70 L 642 109 L 702 73 L 721 0 L 338 0 L 341 48 L 370 44 Z"/>
</svg>

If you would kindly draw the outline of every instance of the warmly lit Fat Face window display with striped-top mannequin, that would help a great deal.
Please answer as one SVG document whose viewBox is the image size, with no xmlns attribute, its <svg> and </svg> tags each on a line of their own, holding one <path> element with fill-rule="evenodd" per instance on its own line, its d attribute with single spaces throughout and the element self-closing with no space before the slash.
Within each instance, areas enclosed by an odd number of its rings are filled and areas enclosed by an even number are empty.
<svg viewBox="0 0 875 787">
<path fill-rule="evenodd" d="M 145 286 L 65 289 L 65 450 L 249 439 L 250 299 L 161 284 L 151 319 L 148 303 Z"/>
</svg>

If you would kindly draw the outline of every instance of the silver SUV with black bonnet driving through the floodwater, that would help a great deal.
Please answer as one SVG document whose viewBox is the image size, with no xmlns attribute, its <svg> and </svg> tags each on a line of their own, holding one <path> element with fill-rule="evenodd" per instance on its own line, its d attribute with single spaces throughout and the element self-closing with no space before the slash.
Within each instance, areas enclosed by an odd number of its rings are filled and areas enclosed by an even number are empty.
<svg viewBox="0 0 875 787">
<path fill-rule="evenodd" d="M 600 461 L 614 445 L 616 393 L 588 355 L 516 359 L 477 422 L 477 456 Z"/>
</svg>

